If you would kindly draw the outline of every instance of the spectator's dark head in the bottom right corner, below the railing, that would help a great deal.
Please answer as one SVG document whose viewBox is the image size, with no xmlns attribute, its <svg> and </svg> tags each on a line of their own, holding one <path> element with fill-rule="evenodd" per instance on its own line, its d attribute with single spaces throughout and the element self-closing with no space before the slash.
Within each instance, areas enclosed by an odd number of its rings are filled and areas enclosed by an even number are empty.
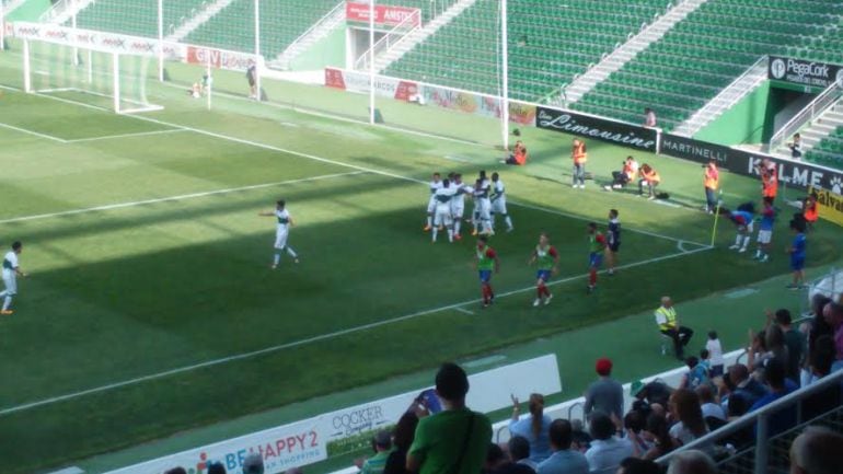
<svg viewBox="0 0 843 474">
<path fill-rule="evenodd" d="M 843 465 L 843 436 L 809 426 L 790 446 L 790 474 L 838 474 Z"/>
</svg>

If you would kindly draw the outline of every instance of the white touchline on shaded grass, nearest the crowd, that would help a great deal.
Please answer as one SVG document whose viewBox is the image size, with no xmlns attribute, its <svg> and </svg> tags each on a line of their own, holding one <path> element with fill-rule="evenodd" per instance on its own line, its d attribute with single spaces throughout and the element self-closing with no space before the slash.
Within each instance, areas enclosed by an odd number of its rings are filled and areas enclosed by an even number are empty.
<svg viewBox="0 0 843 474">
<path fill-rule="evenodd" d="M 698 252 L 705 252 L 705 251 L 708 251 L 708 250 L 711 250 L 711 247 L 703 247 L 703 248 L 696 248 L 696 250 L 693 250 L 693 251 L 690 251 L 690 252 L 682 252 L 682 253 L 662 255 L 660 257 L 654 257 L 654 258 L 648 258 L 648 259 L 640 261 L 640 262 L 635 262 L 635 263 L 632 263 L 632 264 L 621 265 L 621 266 L 617 267 L 617 269 L 628 269 L 628 268 L 650 265 L 650 264 L 654 264 L 654 263 L 657 263 L 657 262 L 663 262 L 663 261 L 668 261 L 668 259 L 672 259 L 672 258 L 683 257 L 683 256 L 688 256 L 690 254 L 694 254 L 694 253 L 698 253 Z M 601 273 L 604 273 L 604 271 L 601 271 Z M 582 281 L 585 284 L 585 279 L 586 279 L 587 276 L 588 276 L 587 274 L 582 274 L 582 275 L 576 275 L 576 276 L 567 277 L 567 278 L 559 279 L 559 280 L 551 281 L 550 284 L 547 284 L 547 286 L 562 285 L 562 284 L 566 284 L 566 282 L 578 280 L 578 279 L 582 279 Z M 503 293 L 498 293 L 496 296 L 496 299 L 500 300 L 501 298 L 506 298 L 506 297 L 510 297 L 510 296 L 513 296 L 513 294 L 523 293 L 523 292 L 527 292 L 527 291 L 533 291 L 534 289 L 535 289 L 535 287 L 530 286 L 530 287 L 527 287 L 527 288 L 520 288 L 520 289 L 517 289 L 517 290 L 506 291 L 506 292 L 503 292 Z M 590 298 L 590 297 L 584 296 L 582 298 Z M 295 348 L 295 347 L 305 346 L 305 345 L 313 344 L 313 343 L 319 343 L 319 342 L 323 342 L 323 340 L 334 339 L 336 337 L 346 336 L 348 334 L 355 334 L 355 333 L 359 333 L 359 332 L 362 332 L 362 331 L 372 330 L 372 328 L 376 328 L 376 327 L 386 326 L 386 325 L 400 323 L 402 321 L 414 320 L 416 317 L 425 316 L 425 315 L 428 315 L 428 314 L 435 314 L 435 313 L 439 313 L 439 312 L 447 311 L 447 310 L 460 311 L 460 310 L 463 310 L 462 307 L 465 307 L 467 304 L 477 304 L 480 302 L 481 302 L 480 299 L 469 300 L 469 301 L 461 301 L 459 303 L 448 304 L 448 305 L 439 307 L 439 308 L 432 308 L 432 309 L 429 309 L 429 310 L 422 310 L 422 311 L 417 311 L 415 313 L 405 314 L 403 316 L 397 316 L 397 317 L 393 317 L 393 319 L 390 319 L 390 320 L 376 321 L 373 323 L 368 323 L 368 324 L 362 324 L 362 325 L 359 325 L 359 326 L 348 327 L 346 330 L 340 330 L 340 331 L 336 331 L 336 332 L 333 332 L 333 333 L 327 333 L 327 334 L 322 334 L 322 335 L 319 335 L 319 336 L 308 337 L 308 338 L 304 338 L 304 339 L 293 340 L 293 342 L 286 343 L 286 344 L 279 344 L 277 346 L 265 347 L 263 349 L 252 350 L 252 351 L 249 351 L 249 352 L 235 354 L 233 356 L 222 357 L 222 358 L 219 358 L 219 359 L 206 360 L 204 362 L 195 363 L 195 365 L 192 365 L 192 366 L 178 367 L 178 368 L 175 368 L 175 369 L 165 370 L 163 372 L 151 373 L 149 375 L 138 377 L 136 379 L 124 380 L 124 381 L 120 381 L 120 382 L 109 383 L 109 384 L 106 384 L 106 385 L 101 385 L 101 386 L 96 386 L 96 388 L 93 388 L 93 389 L 82 390 L 82 391 L 79 391 L 79 392 L 72 392 L 72 393 L 68 393 L 68 394 L 65 394 L 65 395 L 58 395 L 58 396 L 54 396 L 54 397 L 50 397 L 50 398 L 39 400 L 39 401 L 36 401 L 36 402 L 31 402 L 31 403 L 24 403 L 24 404 L 21 404 L 21 405 L 10 406 L 8 408 L 0 409 L 0 416 L 11 415 L 13 413 L 25 412 L 25 411 L 28 411 L 28 409 L 32 409 L 32 408 L 37 408 L 39 406 L 53 405 L 53 404 L 56 404 L 56 403 L 59 403 L 59 402 L 65 402 L 65 401 L 68 401 L 68 400 L 73 400 L 73 398 L 78 398 L 78 397 L 85 396 L 85 395 L 92 395 L 94 393 L 107 392 L 107 391 L 111 391 L 111 390 L 120 389 L 120 388 L 129 386 L 129 385 L 135 385 L 135 384 L 141 383 L 141 382 L 148 382 L 148 381 L 151 381 L 151 380 L 157 380 L 157 379 L 161 379 L 161 378 L 165 378 L 165 377 L 170 377 L 170 375 L 176 375 L 176 374 L 180 374 L 180 373 L 190 372 L 190 371 L 194 371 L 194 370 L 197 370 L 197 369 L 204 369 L 204 368 L 208 368 L 208 367 L 219 366 L 219 365 L 232 362 L 232 361 L 235 361 L 235 360 L 250 359 L 250 358 L 262 356 L 262 355 L 266 355 L 266 354 L 277 352 L 279 350 L 291 349 L 291 348 Z M 524 304 L 527 304 L 527 302 L 524 302 Z M 463 310 L 463 311 L 469 311 L 469 310 Z"/>
</svg>

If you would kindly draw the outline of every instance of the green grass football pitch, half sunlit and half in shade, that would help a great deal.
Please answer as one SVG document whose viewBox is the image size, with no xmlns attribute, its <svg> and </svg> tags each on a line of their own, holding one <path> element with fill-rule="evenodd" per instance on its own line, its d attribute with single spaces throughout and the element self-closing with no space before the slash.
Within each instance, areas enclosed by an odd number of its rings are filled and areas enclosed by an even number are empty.
<svg viewBox="0 0 843 474">
<path fill-rule="evenodd" d="M 8 472 L 614 320 L 663 293 L 689 299 L 787 273 L 787 208 L 770 264 L 726 251 L 728 222 L 706 247 L 713 220 L 695 210 L 693 163 L 637 157 L 678 203 L 662 206 L 591 182 L 570 189 L 570 137 L 559 134 L 523 130 L 529 165 L 504 169 L 484 144 L 498 135 L 494 120 L 382 104 L 407 127 L 432 117 L 472 143 L 224 96 L 207 112 L 170 86 L 151 90 L 164 111 L 116 116 L 74 93 L 21 93 L 19 62 L 0 58 L 0 244 L 23 240 L 31 274 L 15 314 L 0 320 Z M 302 93 L 276 88 L 279 97 Z M 630 153 L 589 146 L 599 181 Z M 431 244 L 422 232 L 429 174 L 480 169 L 501 172 L 516 226 L 492 239 L 500 298 L 487 310 L 473 240 Z M 727 175 L 724 187 L 731 205 L 759 194 L 743 177 Z M 273 271 L 274 221 L 257 213 L 281 197 L 301 264 L 285 256 Z M 625 228 L 622 269 L 586 296 L 586 223 L 604 228 L 613 207 Z M 527 261 L 542 231 L 562 265 L 552 304 L 533 309 Z M 839 238 L 820 226 L 809 265 L 836 261 Z"/>
</svg>

